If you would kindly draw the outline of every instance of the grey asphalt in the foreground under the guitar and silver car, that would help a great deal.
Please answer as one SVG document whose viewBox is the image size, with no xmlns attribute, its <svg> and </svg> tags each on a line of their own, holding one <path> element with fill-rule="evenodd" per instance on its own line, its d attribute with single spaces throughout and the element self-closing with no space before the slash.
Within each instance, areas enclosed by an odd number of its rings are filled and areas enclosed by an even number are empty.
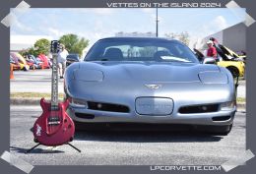
<svg viewBox="0 0 256 174">
<path fill-rule="evenodd" d="M 189 132 L 77 132 L 72 145 L 35 145 L 32 125 L 39 106 L 11 106 L 10 151 L 32 165 L 221 165 L 245 150 L 245 113 L 237 112 L 228 136 Z"/>
</svg>

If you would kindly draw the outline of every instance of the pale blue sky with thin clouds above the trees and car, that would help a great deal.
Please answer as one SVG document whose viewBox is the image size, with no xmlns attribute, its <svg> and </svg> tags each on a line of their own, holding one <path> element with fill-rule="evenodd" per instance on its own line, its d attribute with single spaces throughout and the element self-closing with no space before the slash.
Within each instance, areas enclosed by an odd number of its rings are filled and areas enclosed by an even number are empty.
<svg viewBox="0 0 256 174">
<path fill-rule="evenodd" d="M 93 44 L 116 32 L 156 32 L 153 8 L 30 8 L 25 13 L 13 11 L 11 37 L 47 35 L 58 39 L 75 33 Z M 232 13 L 226 8 L 160 8 L 159 35 L 187 31 L 191 39 L 203 38 L 244 21 L 244 9 Z"/>
</svg>

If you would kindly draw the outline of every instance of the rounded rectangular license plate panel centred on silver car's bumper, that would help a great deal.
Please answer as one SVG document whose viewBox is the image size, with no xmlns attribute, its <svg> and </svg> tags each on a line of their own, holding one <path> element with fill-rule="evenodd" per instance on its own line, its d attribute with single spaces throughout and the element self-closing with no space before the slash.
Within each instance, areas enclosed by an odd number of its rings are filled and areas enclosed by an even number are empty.
<svg viewBox="0 0 256 174">
<path fill-rule="evenodd" d="M 140 115 L 166 116 L 173 110 L 173 100 L 165 97 L 138 97 L 135 100 L 136 112 Z"/>
</svg>

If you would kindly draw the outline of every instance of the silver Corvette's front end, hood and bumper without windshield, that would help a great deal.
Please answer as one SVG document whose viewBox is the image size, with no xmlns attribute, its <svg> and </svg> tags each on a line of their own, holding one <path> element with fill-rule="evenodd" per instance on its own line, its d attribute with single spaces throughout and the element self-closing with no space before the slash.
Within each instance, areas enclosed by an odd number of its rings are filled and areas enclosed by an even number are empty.
<svg viewBox="0 0 256 174">
<path fill-rule="evenodd" d="M 231 74 L 197 62 L 92 61 L 65 73 L 69 115 L 84 123 L 229 126 Z"/>
</svg>

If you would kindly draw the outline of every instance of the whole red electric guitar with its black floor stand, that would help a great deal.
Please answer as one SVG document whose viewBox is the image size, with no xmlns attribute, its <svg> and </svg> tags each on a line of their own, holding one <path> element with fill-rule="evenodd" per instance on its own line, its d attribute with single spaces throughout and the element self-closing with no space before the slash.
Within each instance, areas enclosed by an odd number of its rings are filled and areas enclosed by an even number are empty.
<svg viewBox="0 0 256 174">
<path fill-rule="evenodd" d="M 69 142 L 73 140 L 75 134 L 74 122 L 66 113 L 69 101 L 58 102 L 57 53 L 59 48 L 59 41 L 52 40 L 51 101 L 46 102 L 44 98 L 41 98 L 40 105 L 43 112 L 33 125 L 34 142 L 38 143 L 38 145 L 70 145 Z M 36 146 L 37 145 L 33 146 L 27 152 L 31 151 Z M 80 151 L 75 146 L 71 146 Z"/>
</svg>

